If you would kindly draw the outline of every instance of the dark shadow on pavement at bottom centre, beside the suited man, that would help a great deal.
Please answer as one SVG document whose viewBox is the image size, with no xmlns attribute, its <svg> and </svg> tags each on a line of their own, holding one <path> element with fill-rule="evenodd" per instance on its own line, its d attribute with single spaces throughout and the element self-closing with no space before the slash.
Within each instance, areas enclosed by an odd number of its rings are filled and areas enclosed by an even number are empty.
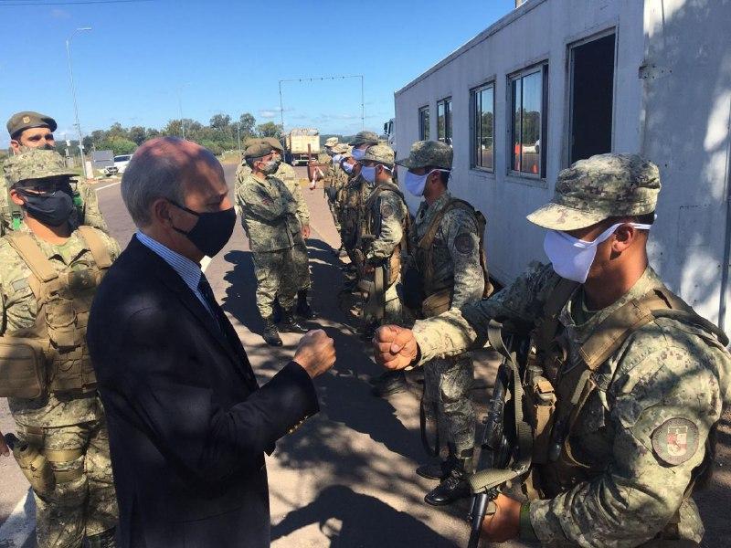
<svg viewBox="0 0 731 548">
<path fill-rule="evenodd" d="M 375 497 L 343 485 L 325 488 L 307 506 L 291 511 L 271 529 L 271 540 L 311 523 L 330 541 L 330 548 L 388 548 L 401 546 L 455 547 L 427 525 Z"/>
</svg>

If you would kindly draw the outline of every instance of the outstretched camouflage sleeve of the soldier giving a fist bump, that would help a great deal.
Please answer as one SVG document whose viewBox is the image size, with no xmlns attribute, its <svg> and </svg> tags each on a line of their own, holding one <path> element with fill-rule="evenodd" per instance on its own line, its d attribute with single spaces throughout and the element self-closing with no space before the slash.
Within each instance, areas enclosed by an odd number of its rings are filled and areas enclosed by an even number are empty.
<svg viewBox="0 0 731 548">
<path fill-rule="evenodd" d="M 546 294 L 557 280 L 550 265 L 534 263 L 490 299 L 468 302 L 461 308 L 452 307 L 439 316 L 417 321 L 413 332 L 420 352 L 419 364 L 482 347 L 492 319 L 532 326 L 541 317 Z"/>
</svg>

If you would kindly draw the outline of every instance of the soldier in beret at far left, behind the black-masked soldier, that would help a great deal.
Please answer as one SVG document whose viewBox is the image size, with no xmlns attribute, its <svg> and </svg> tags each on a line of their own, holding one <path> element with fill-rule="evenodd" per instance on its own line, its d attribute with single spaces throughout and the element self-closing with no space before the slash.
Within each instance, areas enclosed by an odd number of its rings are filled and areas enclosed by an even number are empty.
<svg viewBox="0 0 731 548">
<path fill-rule="evenodd" d="M 14 154 L 22 154 L 36 148 L 55 150 L 56 121 L 38 112 L 16 112 L 7 121 L 7 132 L 10 134 L 10 147 Z M 76 208 L 71 217 L 74 227 L 89 225 L 109 233 L 107 223 L 101 216 L 97 194 L 86 181 L 74 181 L 74 205 Z M 10 187 L 0 174 L 0 236 L 16 230 L 22 224 L 20 208 L 13 204 L 9 197 Z"/>
</svg>

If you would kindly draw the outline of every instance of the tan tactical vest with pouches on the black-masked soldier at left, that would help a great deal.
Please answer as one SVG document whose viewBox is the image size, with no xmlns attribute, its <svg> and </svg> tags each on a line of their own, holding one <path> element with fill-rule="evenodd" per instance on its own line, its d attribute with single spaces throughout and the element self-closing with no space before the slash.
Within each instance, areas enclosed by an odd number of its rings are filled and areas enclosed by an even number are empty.
<svg viewBox="0 0 731 548">
<path fill-rule="evenodd" d="M 84 269 L 58 272 L 30 235 L 18 232 L 8 241 L 30 269 L 30 290 L 37 300 L 36 325 L 9 333 L 9 337 L 41 343 L 49 392 L 92 392 L 96 376 L 86 344 L 91 300 L 111 266 L 109 250 L 91 227 L 79 227 L 94 264 Z"/>
</svg>

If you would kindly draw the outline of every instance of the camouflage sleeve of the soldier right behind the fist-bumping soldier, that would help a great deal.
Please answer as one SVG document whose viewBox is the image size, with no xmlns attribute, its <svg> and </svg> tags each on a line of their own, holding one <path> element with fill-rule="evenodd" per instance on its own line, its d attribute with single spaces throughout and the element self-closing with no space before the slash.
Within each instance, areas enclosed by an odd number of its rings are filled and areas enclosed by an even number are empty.
<svg viewBox="0 0 731 548">
<path fill-rule="evenodd" d="M 459 308 L 482 298 L 484 275 L 480 266 L 480 236 L 474 218 L 457 207 L 444 216 L 440 229 L 454 265 L 451 306 Z"/>
</svg>

